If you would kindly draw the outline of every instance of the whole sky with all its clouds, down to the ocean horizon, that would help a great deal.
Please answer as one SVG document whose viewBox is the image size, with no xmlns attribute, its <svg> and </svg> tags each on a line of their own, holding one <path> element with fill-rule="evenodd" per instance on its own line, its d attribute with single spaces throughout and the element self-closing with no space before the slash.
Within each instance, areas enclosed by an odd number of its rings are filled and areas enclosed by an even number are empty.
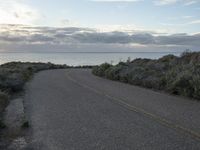
<svg viewBox="0 0 200 150">
<path fill-rule="evenodd" d="M 0 0 L 0 51 L 200 50 L 200 0 Z"/>
</svg>

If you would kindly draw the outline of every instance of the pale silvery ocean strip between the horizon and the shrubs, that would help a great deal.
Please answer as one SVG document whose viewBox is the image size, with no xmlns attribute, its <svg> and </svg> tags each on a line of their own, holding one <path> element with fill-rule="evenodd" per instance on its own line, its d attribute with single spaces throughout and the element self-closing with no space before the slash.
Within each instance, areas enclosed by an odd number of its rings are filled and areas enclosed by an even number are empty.
<svg viewBox="0 0 200 150">
<path fill-rule="evenodd" d="M 0 64 L 11 61 L 51 62 L 55 64 L 99 65 L 104 62 L 116 64 L 136 58 L 157 59 L 167 54 L 179 56 L 179 52 L 60 52 L 60 53 L 0 53 Z"/>
</svg>

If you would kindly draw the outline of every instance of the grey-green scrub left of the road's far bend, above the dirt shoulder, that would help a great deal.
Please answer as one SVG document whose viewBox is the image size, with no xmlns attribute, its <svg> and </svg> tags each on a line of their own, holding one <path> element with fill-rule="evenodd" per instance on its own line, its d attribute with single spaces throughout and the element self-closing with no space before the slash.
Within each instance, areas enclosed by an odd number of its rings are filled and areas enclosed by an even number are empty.
<svg viewBox="0 0 200 150">
<path fill-rule="evenodd" d="M 11 92 L 21 91 L 26 81 L 41 70 L 67 68 L 66 65 L 51 63 L 11 62 L 0 66 L 0 89 Z"/>
</svg>

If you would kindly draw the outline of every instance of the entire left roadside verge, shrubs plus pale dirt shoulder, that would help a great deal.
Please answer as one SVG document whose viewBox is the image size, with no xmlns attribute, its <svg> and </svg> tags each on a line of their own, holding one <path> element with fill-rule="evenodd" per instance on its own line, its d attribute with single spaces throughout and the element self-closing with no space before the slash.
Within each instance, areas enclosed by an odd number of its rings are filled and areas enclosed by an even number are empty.
<svg viewBox="0 0 200 150">
<path fill-rule="evenodd" d="M 23 88 L 33 74 L 48 69 L 64 69 L 51 63 L 11 62 L 0 65 L 0 149 L 23 147 L 23 129 L 29 126 L 23 104 Z"/>
</svg>

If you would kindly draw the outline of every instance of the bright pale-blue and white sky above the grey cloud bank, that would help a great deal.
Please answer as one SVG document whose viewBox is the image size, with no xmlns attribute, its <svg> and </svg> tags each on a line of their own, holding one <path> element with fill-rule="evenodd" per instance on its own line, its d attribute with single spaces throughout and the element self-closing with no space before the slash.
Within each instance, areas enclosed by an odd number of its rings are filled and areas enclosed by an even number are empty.
<svg viewBox="0 0 200 150">
<path fill-rule="evenodd" d="M 0 0 L 0 24 L 198 33 L 199 0 Z"/>
</svg>

